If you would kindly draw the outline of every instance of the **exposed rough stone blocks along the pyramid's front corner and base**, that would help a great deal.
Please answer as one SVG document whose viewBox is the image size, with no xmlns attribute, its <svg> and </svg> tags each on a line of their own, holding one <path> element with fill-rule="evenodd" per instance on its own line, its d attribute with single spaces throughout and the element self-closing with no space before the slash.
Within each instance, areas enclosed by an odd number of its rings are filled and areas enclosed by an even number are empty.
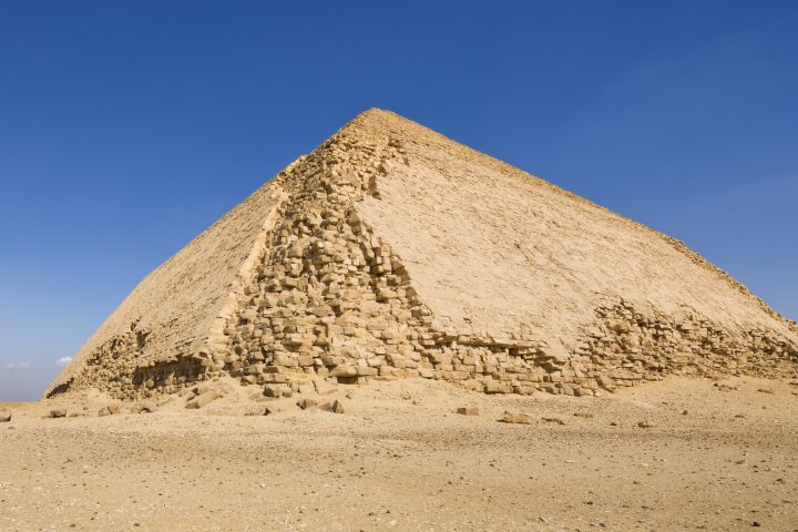
<svg viewBox="0 0 798 532">
<path fill-rule="evenodd" d="M 689 308 L 662 314 L 613 296 L 596 296 L 595 319 L 564 349 L 524 335 L 449 330 L 357 208 L 380 201 L 379 180 L 407 168 L 407 152 L 396 139 L 357 131 L 341 130 L 267 185 L 283 200 L 204 348 L 149 352 L 149 331 L 133 323 L 48 397 L 99 389 L 139 399 L 226 376 L 273 397 L 318 378 L 420 377 L 487 393 L 590 396 L 667 375 L 798 376 L 798 346 L 775 331 L 729 334 Z"/>
</svg>

